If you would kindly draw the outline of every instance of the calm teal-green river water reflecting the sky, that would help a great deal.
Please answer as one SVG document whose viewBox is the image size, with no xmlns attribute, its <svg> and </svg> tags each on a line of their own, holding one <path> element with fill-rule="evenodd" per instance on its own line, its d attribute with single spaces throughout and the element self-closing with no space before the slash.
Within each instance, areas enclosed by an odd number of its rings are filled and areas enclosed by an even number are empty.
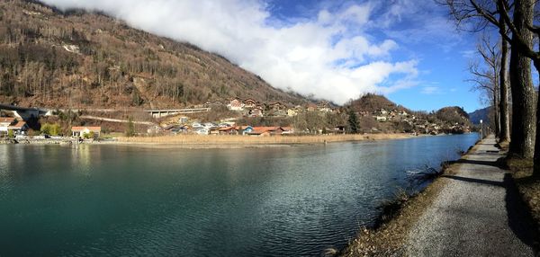
<svg viewBox="0 0 540 257">
<path fill-rule="evenodd" d="M 478 136 L 260 149 L 0 146 L 0 256 L 319 255 Z"/>
</svg>

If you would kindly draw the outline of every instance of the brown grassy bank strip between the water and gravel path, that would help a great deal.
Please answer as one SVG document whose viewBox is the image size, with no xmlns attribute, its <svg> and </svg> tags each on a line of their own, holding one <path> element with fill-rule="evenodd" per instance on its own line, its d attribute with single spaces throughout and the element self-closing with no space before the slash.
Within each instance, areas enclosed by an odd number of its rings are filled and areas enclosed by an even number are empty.
<svg viewBox="0 0 540 257">
<path fill-rule="evenodd" d="M 479 147 L 479 140 L 460 158 L 466 160 L 468 155 Z M 415 195 L 404 192 L 396 194 L 383 206 L 383 213 L 373 227 L 361 227 L 358 235 L 341 251 L 329 250 L 328 255 L 338 256 L 403 256 L 405 243 L 413 226 L 422 214 L 437 199 L 446 187 L 448 180 L 443 175 L 453 175 L 462 164 L 459 161 L 443 163 L 439 176 L 428 187 Z M 335 254 L 332 254 L 335 253 Z"/>
</svg>

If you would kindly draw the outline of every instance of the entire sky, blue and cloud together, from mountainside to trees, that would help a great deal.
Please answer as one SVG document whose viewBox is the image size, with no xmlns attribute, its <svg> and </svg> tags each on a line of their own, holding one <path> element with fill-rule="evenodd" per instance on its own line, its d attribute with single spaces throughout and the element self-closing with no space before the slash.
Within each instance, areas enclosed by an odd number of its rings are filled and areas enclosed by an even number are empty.
<svg viewBox="0 0 540 257">
<path fill-rule="evenodd" d="M 477 35 L 432 0 L 41 0 L 85 8 L 229 58 L 269 84 L 343 104 L 383 93 L 417 111 L 481 108 Z"/>
</svg>

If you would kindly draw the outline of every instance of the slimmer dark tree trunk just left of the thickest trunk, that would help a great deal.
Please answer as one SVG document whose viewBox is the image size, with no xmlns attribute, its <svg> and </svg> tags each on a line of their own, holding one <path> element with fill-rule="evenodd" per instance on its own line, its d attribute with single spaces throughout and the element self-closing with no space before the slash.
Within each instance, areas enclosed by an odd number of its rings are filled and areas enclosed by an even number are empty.
<svg viewBox="0 0 540 257">
<path fill-rule="evenodd" d="M 501 18 L 502 19 L 502 18 Z M 501 33 L 506 33 L 506 26 L 501 21 L 502 27 Z M 501 37 L 502 38 L 502 37 Z M 508 83 L 508 56 L 509 56 L 509 44 L 504 38 L 500 45 L 500 72 L 499 72 L 499 112 L 500 112 L 500 133 L 499 141 L 506 142 L 510 139 L 510 123 L 509 123 L 509 83 Z"/>
</svg>

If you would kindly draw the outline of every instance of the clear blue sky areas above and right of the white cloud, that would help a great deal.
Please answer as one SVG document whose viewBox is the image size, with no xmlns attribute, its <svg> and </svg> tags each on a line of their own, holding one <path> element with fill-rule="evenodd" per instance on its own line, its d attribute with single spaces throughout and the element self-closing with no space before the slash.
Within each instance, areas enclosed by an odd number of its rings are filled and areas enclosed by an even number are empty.
<svg viewBox="0 0 540 257">
<path fill-rule="evenodd" d="M 382 10 L 378 12 L 384 13 L 392 4 L 406 1 L 387 2 L 389 6 L 382 7 Z M 478 35 L 456 31 L 454 23 L 448 20 L 446 7 L 428 2 L 430 1 L 411 1 L 411 3 L 419 4 L 421 10 L 401 16 L 400 22 L 392 23 L 386 28 L 390 32 L 370 31 L 370 35 L 375 40 L 391 39 L 400 45 L 400 49 L 392 53 L 392 59 L 419 59 L 419 84 L 387 93 L 386 96 L 412 110 L 431 111 L 453 105 L 464 107 L 465 111 L 469 112 L 480 109 L 485 105 L 479 100 L 480 93 L 473 92 L 472 84 L 465 82 L 470 76 L 467 65 L 475 58 L 471 54 Z M 271 0 L 267 2 L 272 13 L 271 19 L 279 21 L 314 19 L 320 9 L 340 8 L 358 3 L 365 3 L 365 1 Z M 372 15 L 376 18 L 377 13 Z M 452 35 L 437 38 L 440 36 L 440 31 L 433 34 L 431 30 L 417 31 L 423 30 L 431 18 L 437 19 L 438 22 L 447 21 L 446 26 L 439 28 Z M 417 35 L 419 38 L 410 39 L 408 35 Z"/>
</svg>

